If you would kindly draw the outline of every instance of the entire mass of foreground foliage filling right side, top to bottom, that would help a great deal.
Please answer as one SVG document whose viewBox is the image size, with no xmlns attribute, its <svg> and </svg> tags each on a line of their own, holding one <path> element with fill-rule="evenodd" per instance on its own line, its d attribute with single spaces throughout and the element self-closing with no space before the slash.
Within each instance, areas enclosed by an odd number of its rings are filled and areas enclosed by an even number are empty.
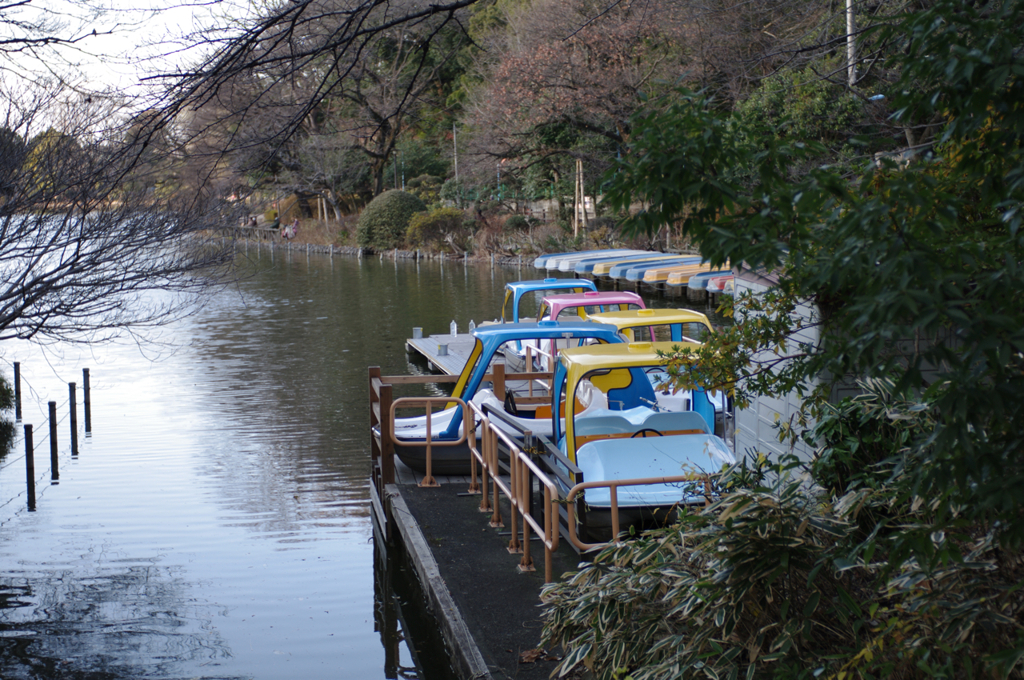
<svg viewBox="0 0 1024 680">
<path fill-rule="evenodd" d="M 872 31 L 899 47 L 893 121 L 930 145 L 908 164 L 818 165 L 827 136 L 796 104 L 758 118 L 683 91 L 633 119 L 606 194 L 646 206 L 627 227 L 679 223 L 712 264 L 777 278 L 667 357 L 676 384 L 796 391 L 779 436 L 812 428 L 817 454 L 799 481 L 727 478 L 551 589 L 563 668 L 1021 677 L 1024 2 L 941 0 Z M 854 378 L 864 395 L 830 405 Z"/>
</svg>

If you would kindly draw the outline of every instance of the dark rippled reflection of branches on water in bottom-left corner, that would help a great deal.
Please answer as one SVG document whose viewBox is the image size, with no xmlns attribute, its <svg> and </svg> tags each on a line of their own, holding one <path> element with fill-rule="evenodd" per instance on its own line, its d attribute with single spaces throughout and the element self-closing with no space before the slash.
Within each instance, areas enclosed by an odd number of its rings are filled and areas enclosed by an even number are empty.
<svg viewBox="0 0 1024 680">
<path fill-rule="evenodd" d="M 0 587 L 0 668 L 19 678 L 173 677 L 231 655 L 188 596 L 182 570 L 156 564 L 34 575 Z M 236 676 L 238 677 L 238 676 Z"/>
</svg>

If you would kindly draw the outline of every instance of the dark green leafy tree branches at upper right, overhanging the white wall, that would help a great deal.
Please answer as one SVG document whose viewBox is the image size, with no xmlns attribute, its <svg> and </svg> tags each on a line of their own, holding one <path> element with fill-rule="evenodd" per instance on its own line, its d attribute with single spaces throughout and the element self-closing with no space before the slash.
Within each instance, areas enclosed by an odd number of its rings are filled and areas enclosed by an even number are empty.
<svg viewBox="0 0 1024 680">
<path fill-rule="evenodd" d="M 1024 8 L 1015 1 L 998 17 L 976 15 L 977 34 L 959 8 L 938 3 L 891 29 L 925 43 L 907 54 L 944 55 L 935 57 L 941 68 L 904 63 L 899 112 L 944 107 L 941 157 L 903 169 L 867 165 L 852 180 L 827 167 L 795 178 L 820 145 L 782 136 L 754 143 L 743 121 L 684 93 L 637 119 L 609 193 L 620 209 L 650 205 L 633 228 L 681 219 L 713 264 L 782 272 L 771 295 L 734 302 L 755 313 L 724 336 L 720 355 L 735 374 L 726 367 L 723 382 L 739 381 L 740 396 L 798 389 L 811 415 L 849 375 L 895 375 L 898 393 L 924 390 L 943 417 L 913 444 L 927 441 L 939 463 L 921 467 L 918 482 L 976 520 L 999 521 L 1001 539 L 1016 544 L 1024 539 L 1024 66 L 993 59 L 1024 43 Z M 958 28 L 936 31 L 943 26 Z M 817 311 L 802 316 L 801 305 Z M 802 343 L 802 327 L 820 342 Z M 705 351 L 712 360 L 714 348 Z M 929 545 L 920 544 L 920 558 L 936 557 Z"/>
</svg>

